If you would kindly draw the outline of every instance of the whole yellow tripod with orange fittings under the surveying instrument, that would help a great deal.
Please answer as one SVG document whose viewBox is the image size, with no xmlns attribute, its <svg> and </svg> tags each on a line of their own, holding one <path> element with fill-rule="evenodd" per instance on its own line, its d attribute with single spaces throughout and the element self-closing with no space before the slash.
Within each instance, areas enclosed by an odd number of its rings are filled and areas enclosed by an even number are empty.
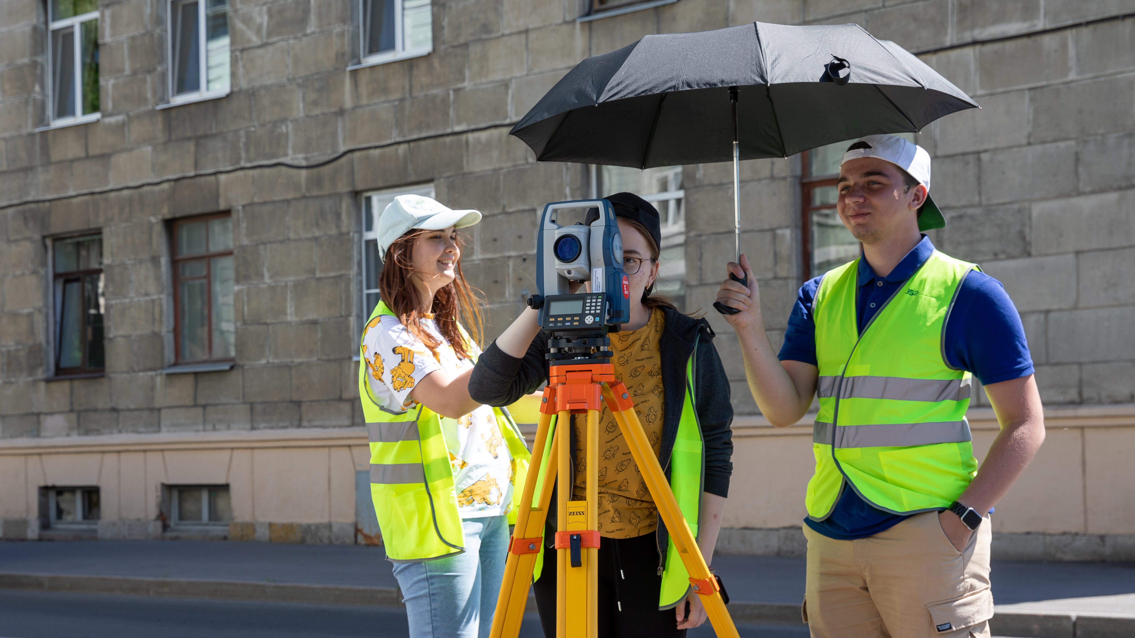
<svg viewBox="0 0 1135 638">
<path fill-rule="evenodd" d="M 598 636 L 598 463 L 587 462 L 587 500 L 569 501 L 571 453 L 569 415 L 587 415 L 587 459 L 598 459 L 599 409 L 604 401 L 615 416 L 638 463 L 642 479 L 670 530 L 690 575 L 692 589 L 701 595 L 709 622 L 717 636 L 737 638 L 737 628 L 725 609 L 717 580 L 709 572 L 693 534 L 690 531 L 666 476 L 654 456 L 627 388 L 613 374 L 611 364 L 553 365 L 540 405 L 532 461 L 516 512 L 516 527 L 508 544 L 504 580 L 493 618 L 491 638 L 516 638 L 528 603 L 536 559 L 544 551 L 544 525 L 552 501 L 552 478 L 558 482 L 556 526 L 556 637 L 595 638 Z M 556 417 L 556 426 L 552 417 Z M 562 427 L 561 427 L 562 426 Z M 548 440 L 550 435 L 552 440 Z M 540 468 L 547 468 L 539 471 Z M 543 482 L 540 476 L 543 475 Z"/>
</svg>

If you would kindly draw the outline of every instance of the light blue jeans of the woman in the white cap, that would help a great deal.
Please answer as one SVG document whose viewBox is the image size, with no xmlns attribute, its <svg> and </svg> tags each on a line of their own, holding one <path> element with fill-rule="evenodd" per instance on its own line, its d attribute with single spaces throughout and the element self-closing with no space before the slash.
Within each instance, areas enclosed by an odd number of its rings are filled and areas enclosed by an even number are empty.
<svg viewBox="0 0 1135 638">
<path fill-rule="evenodd" d="M 394 563 L 410 638 L 488 638 L 508 552 L 508 517 L 466 518 L 456 556 Z"/>
</svg>

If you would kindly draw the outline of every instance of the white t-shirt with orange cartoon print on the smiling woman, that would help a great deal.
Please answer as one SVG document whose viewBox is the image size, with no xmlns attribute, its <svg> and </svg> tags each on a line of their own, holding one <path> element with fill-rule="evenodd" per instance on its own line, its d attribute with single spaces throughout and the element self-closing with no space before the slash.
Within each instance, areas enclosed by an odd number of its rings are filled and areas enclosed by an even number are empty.
<svg viewBox="0 0 1135 638">
<path fill-rule="evenodd" d="M 379 315 L 367 324 L 362 335 L 362 357 L 367 361 L 373 399 L 388 410 L 415 410 L 410 391 L 427 374 L 442 369 L 449 377 L 473 367 L 461 359 L 442 337 L 434 318 L 423 318 L 422 327 L 440 342 L 436 352 L 413 335 L 397 317 Z M 473 356 L 480 355 L 472 344 Z M 515 487 L 515 466 L 496 423 L 493 408 L 480 406 L 459 418 L 442 419 L 449 466 L 457 492 L 461 518 L 508 513 Z"/>
</svg>

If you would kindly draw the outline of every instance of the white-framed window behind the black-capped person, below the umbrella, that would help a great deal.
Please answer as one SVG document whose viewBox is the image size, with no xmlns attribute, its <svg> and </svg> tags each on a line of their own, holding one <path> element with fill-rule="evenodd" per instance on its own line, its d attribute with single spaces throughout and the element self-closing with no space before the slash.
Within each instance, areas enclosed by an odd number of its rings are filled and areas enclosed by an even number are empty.
<svg viewBox="0 0 1135 638">
<path fill-rule="evenodd" d="M 598 196 L 633 193 L 654 204 L 662 224 L 658 247 L 658 281 L 654 292 L 686 305 L 686 190 L 682 167 L 646 170 L 627 167 L 599 167 Z"/>
</svg>

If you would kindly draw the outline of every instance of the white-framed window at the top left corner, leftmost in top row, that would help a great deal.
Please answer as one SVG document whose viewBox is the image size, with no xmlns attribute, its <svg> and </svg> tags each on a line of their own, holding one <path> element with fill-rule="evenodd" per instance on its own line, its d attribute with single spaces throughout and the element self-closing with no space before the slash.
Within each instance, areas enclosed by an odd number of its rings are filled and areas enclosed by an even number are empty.
<svg viewBox="0 0 1135 638">
<path fill-rule="evenodd" d="M 99 1 L 49 0 L 52 125 L 99 119 Z"/>
</svg>

